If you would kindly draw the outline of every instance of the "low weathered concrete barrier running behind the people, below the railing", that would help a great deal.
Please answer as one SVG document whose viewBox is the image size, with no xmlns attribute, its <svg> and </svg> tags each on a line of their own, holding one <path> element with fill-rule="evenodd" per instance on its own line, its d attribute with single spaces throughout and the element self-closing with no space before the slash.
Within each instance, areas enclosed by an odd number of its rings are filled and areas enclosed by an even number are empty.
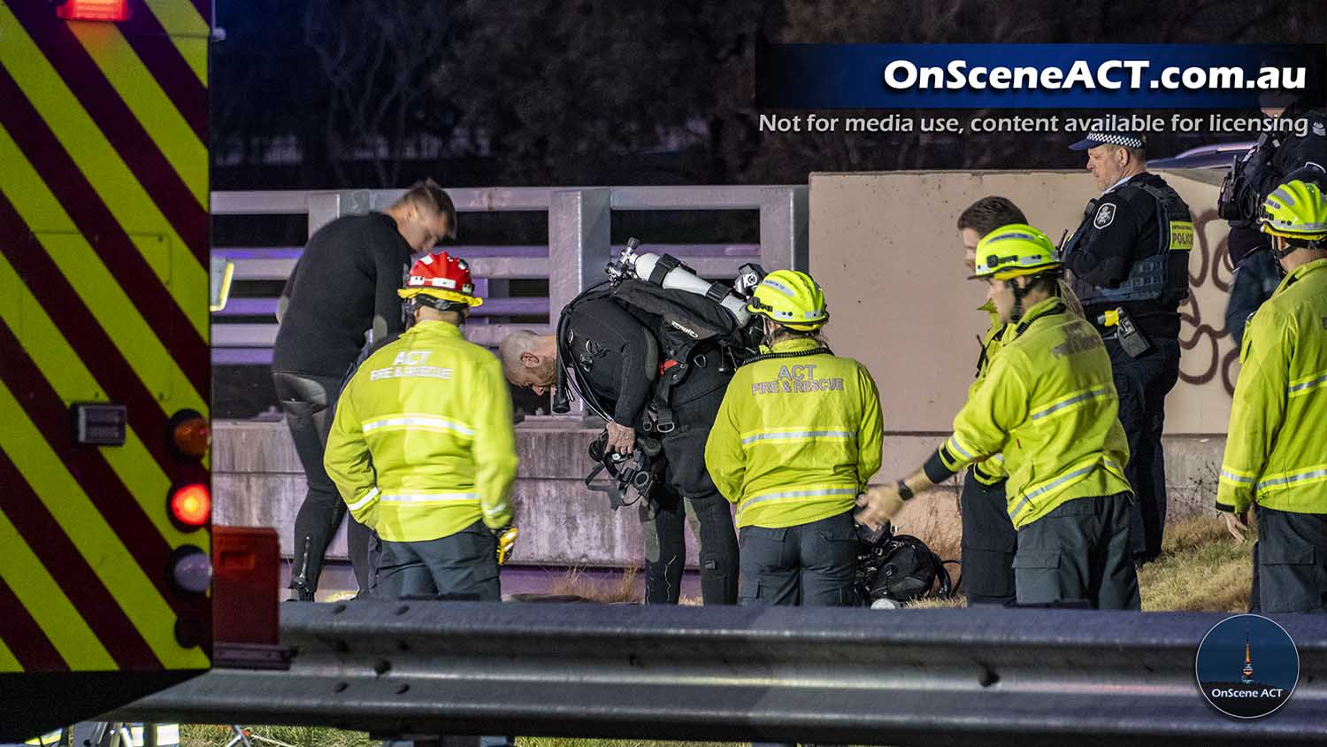
<svg viewBox="0 0 1327 747">
<path fill-rule="evenodd" d="M 515 509 L 522 529 L 515 561 L 522 565 L 625 568 L 641 563 L 636 508 L 613 512 L 602 494 L 585 490 L 591 468 L 585 444 L 598 429 L 580 419 L 540 418 L 516 426 L 520 471 Z M 886 434 L 877 482 L 920 464 L 947 434 Z M 1222 437 L 1168 437 L 1166 484 L 1172 520 L 1209 511 L 1216 502 Z M 295 515 L 304 500 L 304 472 L 283 422 L 218 421 L 212 435 L 215 521 L 275 527 L 281 552 L 292 553 Z M 908 506 L 900 531 L 917 535 L 945 557 L 957 557 L 959 483 Z M 345 532 L 329 551 L 345 559 Z M 695 567 L 689 539 L 687 565 Z"/>
</svg>

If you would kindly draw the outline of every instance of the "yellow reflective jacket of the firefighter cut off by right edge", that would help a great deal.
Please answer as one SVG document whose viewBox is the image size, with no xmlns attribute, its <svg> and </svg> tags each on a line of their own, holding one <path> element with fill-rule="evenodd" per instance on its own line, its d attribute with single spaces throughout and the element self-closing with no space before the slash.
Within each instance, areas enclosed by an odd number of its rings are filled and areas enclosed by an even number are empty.
<svg viewBox="0 0 1327 747">
<path fill-rule="evenodd" d="M 1217 508 L 1327 513 L 1327 259 L 1295 268 L 1249 320 Z"/>
</svg>

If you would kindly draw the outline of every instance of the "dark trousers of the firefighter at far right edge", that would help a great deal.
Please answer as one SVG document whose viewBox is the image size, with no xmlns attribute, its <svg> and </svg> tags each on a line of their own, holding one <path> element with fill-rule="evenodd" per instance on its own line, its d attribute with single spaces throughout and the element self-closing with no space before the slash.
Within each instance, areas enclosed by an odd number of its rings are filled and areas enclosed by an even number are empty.
<svg viewBox="0 0 1327 747">
<path fill-rule="evenodd" d="M 1255 548 L 1263 614 L 1327 614 L 1327 513 L 1262 507 Z"/>
</svg>

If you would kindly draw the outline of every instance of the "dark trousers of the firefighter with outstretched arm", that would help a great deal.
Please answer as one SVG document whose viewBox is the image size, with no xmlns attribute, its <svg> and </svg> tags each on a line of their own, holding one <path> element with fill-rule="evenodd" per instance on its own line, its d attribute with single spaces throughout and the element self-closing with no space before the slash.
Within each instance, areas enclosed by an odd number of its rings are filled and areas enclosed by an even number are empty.
<svg viewBox="0 0 1327 747">
<path fill-rule="evenodd" d="M 1066 502 L 1018 531 L 1018 604 L 1087 600 L 1093 609 L 1139 609 L 1129 549 L 1131 495 Z"/>
</svg>

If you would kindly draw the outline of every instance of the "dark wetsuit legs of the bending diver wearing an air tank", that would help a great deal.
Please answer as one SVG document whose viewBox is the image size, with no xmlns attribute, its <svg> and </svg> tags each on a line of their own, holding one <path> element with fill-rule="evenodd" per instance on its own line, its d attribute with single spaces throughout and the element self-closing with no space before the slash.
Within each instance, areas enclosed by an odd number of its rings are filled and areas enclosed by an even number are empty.
<svg viewBox="0 0 1327 747">
<path fill-rule="evenodd" d="M 733 507 L 705 470 L 705 442 L 719 411 L 730 374 L 718 354 L 693 358 L 686 381 L 673 390 L 677 426 L 660 439 L 667 459 L 664 486 L 641 506 L 645 532 L 645 602 L 677 604 L 686 564 L 683 513 L 701 543 L 701 597 L 706 605 L 738 601 L 738 536 Z M 703 365 L 702 365 L 703 364 Z"/>
</svg>

